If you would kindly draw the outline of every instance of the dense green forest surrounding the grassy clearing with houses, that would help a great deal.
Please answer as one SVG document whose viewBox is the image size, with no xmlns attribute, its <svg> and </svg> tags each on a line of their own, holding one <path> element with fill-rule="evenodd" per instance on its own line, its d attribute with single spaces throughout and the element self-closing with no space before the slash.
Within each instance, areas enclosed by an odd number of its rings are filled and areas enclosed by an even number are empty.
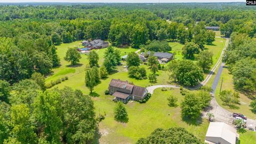
<svg viewBox="0 0 256 144">
<path fill-rule="evenodd" d="M 253 8 L 241 3 L 0 5 L 0 143 L 93 139 L 99 118 L 90 97 L 70 87 L 45 91 L 44 77 L 60 65 L 55 46 L 61 43 L 100 38 L 117 47 L 155 49 L 154 43 L 167 39 L 188 47 L 195 43 L 199 51 L 215 37 L 205 26 L 220 26 L 221 34 L 231 36 L 225 60 L 235 85 L 255 92 Z"/>
</svg>

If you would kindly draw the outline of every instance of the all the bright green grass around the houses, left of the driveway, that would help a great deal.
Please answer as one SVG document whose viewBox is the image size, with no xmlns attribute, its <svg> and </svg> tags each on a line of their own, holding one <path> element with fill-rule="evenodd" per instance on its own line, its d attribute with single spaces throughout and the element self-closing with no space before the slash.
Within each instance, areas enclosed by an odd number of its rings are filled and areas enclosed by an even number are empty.
<svg viewBox="0 0 256 144">
<path fill-rule="evenodd" d="M 180 52 L 183 45 L 179 43 L 169 43 L 173 51 Z M 206 45 L 207 49 L 212 50 L 214 57 L 217 58 L 221 53 L 223 46 L 225 44 L 225 39 L 216 38 L 214 45 Z M 63 60 L 65 57 L 68 47 L 79 46 L 79 42 L 74 42 L 70 44 L 61 44 L 57 46 L 57 53 L 61 59 L 61 66 L 53 69 L 53 75 L 46 78 L 46 83 L 50 83 L 58 78 L 68 76 L 68 81 L 62 82 L 54 87 L 59 87 L 60 89 L 65 86 L 70 86 L 73 89 L 82 90 L 84 94 L 89 94 L 89 90 L 85 87 L 84 82 L 84 69 L 88 64 L 87 55 L 83 54 L 82 59 L 79 62 L 80 65 L 76 67 L 71 67 L 68 62 Z M 132 49 L 131 47 L 127 48 L 116 48 L 121 50 L 121 56 L 129 53 L 135 52 L 137 49 Z M 99 54 L 99 65 L 102 65 L 103 54 L 106 49 L 96 50 Z M 180 57 L 177 59 L 182 59 L 180 52 Z M 94 143 L 103 142 L 103 143 L 134 143 L 141 137 L 147 137 L 151 132 L 153 132 L 158 127 L 163 127 L 165 129 L 172 126 L 182 126 L 185 127 L 189 132 L 193 133 L 204 141 L 205 133 L 207 131 L 208 122 L 206 119 L 202 119 L 202 123 L 198 125 L 188 124 L 183 122 L 180 115 L 180 107 L 170 108 L 167 106 L 167 96 L 170 94 L 175 95 L 179 102 L 183 99 L 183 96 L 180 95 L 178 89 L 161 91 L 157 89 L 153 94 L 153 97 L 149 99 L 147 103 L 138 103 L 138 102 L 129 102 L 125 105 L 129 114 L 129 122 L 126 124 L 117 123 L 114 120 L 113 110 L 115 107 L 115 102 L 112 101 L 114 97 L 110 95 L 105 95 L 105 90 L 108 88 L 108 84 L 112 78 L 127 80 L 133 82 L 135 85 L 139 86 L 150 86 L 150 85 L 159 85 L 167 84 L 169 75 L 166 71 L 159 70 L 157 72 L 157 83 L 150 84 L 148 79 L 136 80 L 129 78 L 127 74 L 126 62 L 122 61 L 122 65 L 116 68 L 116 72 L 110 74 L 108 78 L 102 79 L 101 83 L 94 87 L 92 99 L 95 105 L 95 112 L 97 114 L 106 113 L 106 119 L 104 119 L 99 124 L 99 131 L 102 133 L 100 138 L 95 139 Z M 146 65 L 141 65 L 140 67 L 145 67 L 147 74 L 150 73 L 150 70 Z"/>
</svg>

